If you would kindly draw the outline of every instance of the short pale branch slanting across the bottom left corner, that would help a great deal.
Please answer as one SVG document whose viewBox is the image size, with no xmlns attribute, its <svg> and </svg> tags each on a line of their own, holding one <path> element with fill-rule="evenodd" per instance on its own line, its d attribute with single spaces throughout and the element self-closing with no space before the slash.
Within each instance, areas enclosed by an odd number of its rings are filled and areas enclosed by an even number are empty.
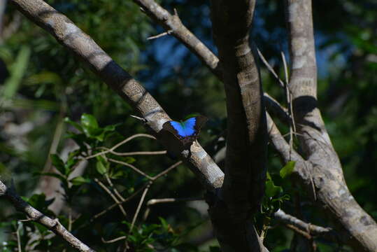
<svg viewBox="0 0 377 252">
<path fill-rule="evenodd" d="M 40 211 L 31 207 L 27 202 L 21 199 L 18 196 L 13 188 L 7 188 L 6 185 L 0 181 L 0 197 L 3 196 L 8 199 L 15 209 L 26 214 L 30 221 L 35 221 L 44 225 L 46 228 L 55 232 L 56 235 L 59 235 L 64 240 L 66 240 L 73 248 L 78 249 L 78 251 L 94 251 L 92 248 L 84 244 L 82 241 L 74 237 L 62 224 L 59 223 L 58 219 L 52 219 L 48 216 L 45 216 Z"/>
</svg>

